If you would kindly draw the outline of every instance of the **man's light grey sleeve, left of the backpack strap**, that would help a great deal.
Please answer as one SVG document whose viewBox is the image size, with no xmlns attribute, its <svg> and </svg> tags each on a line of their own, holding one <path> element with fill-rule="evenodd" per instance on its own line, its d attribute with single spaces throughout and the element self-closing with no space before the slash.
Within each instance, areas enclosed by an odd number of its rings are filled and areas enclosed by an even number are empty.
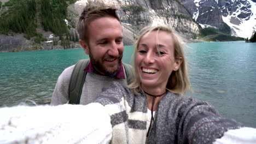
<svg viewBox="0 0 256 144">
<path fill-rule="evenodd" d="M 54 92 L 53 97 L 51 98 L 51 105 L 61 105 L 67 104 L 69 101 L 69 82 L 71 79 L 71 74 L 74 69 L 74 65 L 66 68 L 61 75 L 59 76 Z"/>
</svg>

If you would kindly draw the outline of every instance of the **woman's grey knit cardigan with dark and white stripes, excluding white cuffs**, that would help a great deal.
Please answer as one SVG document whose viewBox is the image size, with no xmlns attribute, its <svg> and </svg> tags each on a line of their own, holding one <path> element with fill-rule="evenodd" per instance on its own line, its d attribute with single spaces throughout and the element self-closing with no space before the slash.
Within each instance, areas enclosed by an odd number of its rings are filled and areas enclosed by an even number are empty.
<svg viewBox="0 0 256 144">
<path fill-rule="evenodd" d="M 240 128 L 234 120 L 219 116 L 205 101 L 167 92 L 146 137 L 146 95 L 135 95 L 114 82 L 96 102 L 104 105 L 110 115 L 112 143 L 212 143 L 225 131 Z"/>
</svg>

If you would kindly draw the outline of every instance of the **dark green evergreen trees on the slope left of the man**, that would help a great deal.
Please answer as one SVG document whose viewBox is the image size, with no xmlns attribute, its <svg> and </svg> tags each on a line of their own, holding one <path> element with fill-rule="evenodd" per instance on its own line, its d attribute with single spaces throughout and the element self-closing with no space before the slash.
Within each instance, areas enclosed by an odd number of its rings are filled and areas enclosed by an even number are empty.
<svg viewBox="0 0 256 144">
<path fill-rule="evenodd" d="M 70 34 L 65 19 L 67 19 L 68 5 L 74 2 L 75 0 L 10 0 L 5 2 L 4 5 L 1 4 L 0 33 L 5 35 L 24 33 L 26 39 L 36 37 L 34 40 L 40 43 L 44 40 L 43 35 L 36 31 L 36 28 L 40 26 L 44 31 L 53 32 L 60 39 L 63 37 L 69 39 Z"/>
</svg>

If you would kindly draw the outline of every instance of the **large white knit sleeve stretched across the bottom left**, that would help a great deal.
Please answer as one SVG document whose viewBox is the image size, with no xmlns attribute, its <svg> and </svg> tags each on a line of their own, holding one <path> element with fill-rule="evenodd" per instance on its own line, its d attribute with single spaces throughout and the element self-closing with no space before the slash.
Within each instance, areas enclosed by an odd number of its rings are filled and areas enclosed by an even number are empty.
<svg viewBox="0 0 256 144">
<path fill-rule="evenodd" d="M 0 109 L 0 143 L 109 143 L 104 106 L 15 106 Z"/>
</svg>

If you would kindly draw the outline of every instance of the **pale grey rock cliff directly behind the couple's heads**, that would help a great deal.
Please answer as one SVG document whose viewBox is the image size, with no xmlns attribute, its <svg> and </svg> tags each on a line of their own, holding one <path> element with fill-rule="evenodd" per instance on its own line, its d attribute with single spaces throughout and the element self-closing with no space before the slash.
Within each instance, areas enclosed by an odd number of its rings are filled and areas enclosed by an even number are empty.
<svg viewBox="0 0 256 144">
<path fill-rule="evenodd" d="M 190 14 L 179 1 L 101 0 L 100 2 L 118 8 L 124 30 L 135 33 L 135 35 L 144 26 L 158 24 L 170 25 L 188 39 L 196 38 L 199 34 L 200 26 L 191 19 Z M 86 3 L 86 0 L 77 1 L 70 5 L 69 9 L 80 14 Z M 77 21 L 78 16 L 73 18 L 73 21 Z M 129 39 L 133 41 L 133 38 Z"/>
</svg>

